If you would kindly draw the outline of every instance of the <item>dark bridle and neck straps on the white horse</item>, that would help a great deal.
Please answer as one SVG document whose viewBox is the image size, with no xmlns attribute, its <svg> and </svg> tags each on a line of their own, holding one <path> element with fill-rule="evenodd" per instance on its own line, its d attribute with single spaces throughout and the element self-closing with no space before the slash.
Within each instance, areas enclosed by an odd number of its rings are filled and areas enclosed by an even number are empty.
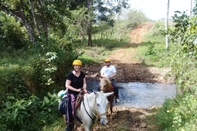
<svg viewBox="0 0 197 131">
<path fill-rule="evenodd" d="M 84 100 L 85 100 L 85 96 L 84 96 Z M 85 111 L 86 111 L 87 115 L 88 115 L 92 120 L 94 120 L 93 116 L 91 116 L 90 113 L 87 111 L 86 106 L 85 106 L 85 103 L 84 103 L 84 100 L 83 100 L 83 106 L 84 106 L 84 108 L 85 108 Z M 88 103 L 88 107 L 90 108 L 88 99 L 86 98 L 86 100 L 87 100 L 87 103 Z M 94 107 L 95 107 L 96 113 L 94 113 L 93 111 L 91 111 L 92 114 L 93 114 L 96 118 L 99 118 L 99 117 L 101 117 L 101 116 L 103 116 L 103 115 L 106 115 L 107 112 L 104 112 L 104 113 L 101 113 L 101 114 L 98 113 L 98 108 L 97 108 L 97 105 L 96 105 L 96 97 L 95 97 L 94 101 L 95 101 L 95 102 L 94 102 Z"/>
</svg>

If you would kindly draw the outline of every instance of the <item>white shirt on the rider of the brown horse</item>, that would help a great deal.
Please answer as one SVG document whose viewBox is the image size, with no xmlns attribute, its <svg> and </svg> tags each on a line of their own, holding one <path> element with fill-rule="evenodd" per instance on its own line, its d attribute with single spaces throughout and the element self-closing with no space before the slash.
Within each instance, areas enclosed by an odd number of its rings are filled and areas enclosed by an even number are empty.
<svg viewBox="0 0 197 131">
<path fill-rule="evenodd" d="M 112 76 L 112 74 L 116 73 L 116 68 L 113 65 L 110 65 L 109 67 L 103 66 L 100 73 L 109 78 L 110 76 Z"/>
</svg>

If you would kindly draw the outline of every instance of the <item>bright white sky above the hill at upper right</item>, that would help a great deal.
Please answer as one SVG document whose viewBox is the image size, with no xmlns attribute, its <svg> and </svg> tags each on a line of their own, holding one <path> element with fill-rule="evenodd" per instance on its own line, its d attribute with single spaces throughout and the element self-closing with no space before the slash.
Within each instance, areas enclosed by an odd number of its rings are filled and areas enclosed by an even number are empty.
<svg viewBox="0 0 197 131">
<path fill-rule="evenodd" d="M 166 18 L 168 0 L 129 0 L 131 9 L 141 10 L 149 19 L 159 20 Z M 169 18 L 174 11 L 190 13 L 191 0 L 170 0 Z M 193 4 L 194 5 L 194 4 Z"/>
</svg>

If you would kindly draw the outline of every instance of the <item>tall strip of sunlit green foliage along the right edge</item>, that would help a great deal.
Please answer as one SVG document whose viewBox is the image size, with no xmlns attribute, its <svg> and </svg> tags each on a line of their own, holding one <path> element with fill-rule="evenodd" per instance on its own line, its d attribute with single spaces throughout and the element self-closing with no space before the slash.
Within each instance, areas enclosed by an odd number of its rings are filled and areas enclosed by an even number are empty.
<svg viewBox="0 0 197 131">
<path fill-rule="evenodd" d="M 196 7 L 195 7 L 196 9 Z M 172 73 L 175 75 L 178 96 L 169 100 L 160 109 L 158 121 L 161 130 L 195 131 L 197 119 L 197 55 L 196 16 L 189 17 L 183 12 L 174 16 L 174 28 L 169 30 L 176 50 L 171 55 Z M 161 118 L 164 118 L 160 121 Z"/>
</svg>

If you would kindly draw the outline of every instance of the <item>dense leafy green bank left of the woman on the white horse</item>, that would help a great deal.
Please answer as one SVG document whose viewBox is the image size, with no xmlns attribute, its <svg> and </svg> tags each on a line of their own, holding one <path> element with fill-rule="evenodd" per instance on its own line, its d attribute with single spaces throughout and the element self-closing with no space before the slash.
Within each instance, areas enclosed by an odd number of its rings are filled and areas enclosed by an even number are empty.
<svg viewBox="0 0 197 131">
<path fill-rule="evenodd" d="M 0 130 L 42 130 L 59 117 L 55 95 L 45 95 L 65 88 L 78 53 L 53 42 L 0 55 Z"/>
</svg>

